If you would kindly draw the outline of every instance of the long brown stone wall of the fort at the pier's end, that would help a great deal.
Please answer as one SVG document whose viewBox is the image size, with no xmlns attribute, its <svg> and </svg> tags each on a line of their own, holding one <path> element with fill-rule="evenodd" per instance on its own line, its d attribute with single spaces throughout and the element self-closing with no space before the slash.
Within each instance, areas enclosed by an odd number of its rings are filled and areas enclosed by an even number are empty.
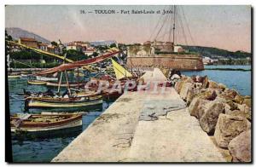
<svg viewBox="0 0 256 167">
<path fill-rule="evenodd" d="M 166 67 L 180 71 L 204 70 L 201 55 L 150 55 L 128 56 L 126 66 L 131 67 Z"/>
</svg>

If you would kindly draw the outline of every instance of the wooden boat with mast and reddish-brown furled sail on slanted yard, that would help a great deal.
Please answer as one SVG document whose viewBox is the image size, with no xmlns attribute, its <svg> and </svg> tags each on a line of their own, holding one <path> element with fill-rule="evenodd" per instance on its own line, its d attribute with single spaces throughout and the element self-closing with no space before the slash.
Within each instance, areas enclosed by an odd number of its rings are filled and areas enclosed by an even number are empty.
<svg viewBox="0 0 256 167">
<path fill-rule="evenodd" d="M 89 60 L 79 60 L 74 61 L 73 63 L 62 64 L 61 66 L 56 66 L 51 69 L 44 70 L 42 72 L 38 72 L 37 75 L 48 75 L 55 72 L 61 72 L 61 78 L 64 74 L 66 76 L 67 81 L 67 92 L 65 95 L 30 95 L 26 97 L 25 107 L 29 108 L 70 108 L 70 107 L 88 107 L 88 106 L 96 106 L 102 104 L 102 95 L 96 94 L 95 92 L 88 92 L 84 95 L 76 95 L 73 94 L 70 89 L 70 84 L 67 77 L 67 70 L 76 69 L 81 66 L 86 66 L 89 64 L 93 64 L 96 62 L 100 62 L 102 60 L 106 60 L 109 57 L 118 54 L 119 51 L 112 50 L 111 53 L 106 55 L 101 55 L 95 58 L 91 58 Z M 58 93 L 60 92 L 61 87 L 61 78 L 58 86 Z"/>
</svg>

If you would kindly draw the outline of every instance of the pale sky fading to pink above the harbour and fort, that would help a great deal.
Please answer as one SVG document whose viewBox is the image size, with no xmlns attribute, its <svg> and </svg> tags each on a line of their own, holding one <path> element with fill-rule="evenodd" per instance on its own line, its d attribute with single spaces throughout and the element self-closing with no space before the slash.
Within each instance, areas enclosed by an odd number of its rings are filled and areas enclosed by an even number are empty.
<svg viewBox="0 0 256 167">
<path fill-rule="evenodd" d="M 154 14 L 131 14 L 131 10 L 143 9 Z M 158 5 L 10 5 L 5 7 L 5 26 L 63 43 L 166 41 L 172 39 L 173 13 L 162 14 L 163 9 L 173 12 L 172 6 Z M 95 10 L 114 10 L 115 14 L 96 14 Z M 251 52 L 251 6 L 177 6 L 175 32 L 177 44 Z"/>
</svg>

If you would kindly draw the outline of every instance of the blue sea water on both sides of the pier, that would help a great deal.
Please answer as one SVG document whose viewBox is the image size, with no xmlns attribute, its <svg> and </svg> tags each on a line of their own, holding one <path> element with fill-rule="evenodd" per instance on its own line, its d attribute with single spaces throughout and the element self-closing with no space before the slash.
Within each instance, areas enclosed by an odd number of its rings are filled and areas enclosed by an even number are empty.
<svg viewBox="0 0 256 167">
<path fill-rule="evenodd" d="M 206 68 L 242 68 L 250 69 L 251 66 L 206 66 Z M 185 75 L 207 75 L 213 81 L 224 83 L 229 88 L 239 91 L 241 95 L 251 95 L 251 71 L 217 71 L 205 70 L 201 72 L 183 72 Z M 47 88 L 38 85 L 27 85 L 27 79 L 9 79 L 9 95 L 17 95 L 23 92 L 23 88 L 31 91 L 46 91 Z M 83 116 L 83 130 L 92 123 L 103 111 L 105 111 L 112 102 L 103 101 L 102 106 L 89 109 L 82 108 L 79 111 L 89 112 Z M 63 110 L 64 111 L 64 110 Z M 10 112 L 24 112 L 24 101 L 20 97 L 10 98 Z M 38 112 L 32 111 L 32 112 Z M 40 111 L 39 111 L 40 112 Z M 13 158 L 15 162 L 49 162 L 61 150 L 73 141 L 79 133 L 69 134 L 67 136 L 58 136 L 48 139 L 26 139 L 12 140 Z"/>
</svg>

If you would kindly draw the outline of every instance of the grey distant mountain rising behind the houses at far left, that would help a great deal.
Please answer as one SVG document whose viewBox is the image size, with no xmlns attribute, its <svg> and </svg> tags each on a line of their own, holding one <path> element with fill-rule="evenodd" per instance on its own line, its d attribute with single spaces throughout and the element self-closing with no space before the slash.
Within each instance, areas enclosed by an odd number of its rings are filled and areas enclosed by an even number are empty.
<svg viewBox="0 0 256 167">
<path fill-rule="evenodd" d="M 16 40 L 18 40 L 20 37 L 32 37 L 32 38 L 35 38 L 39 42 L 50 43 L 50 41 L 48 39 L 38 36 L 37 34 L 35 34 L 33 32 L 27 32 L 26 30 L 22 30 L 21 28 L 9 27 L 9 28 L 5 28 L 5 30 L 7 31 L 7 33 L 10 36 L 12 36 Z"/>
</svg>

